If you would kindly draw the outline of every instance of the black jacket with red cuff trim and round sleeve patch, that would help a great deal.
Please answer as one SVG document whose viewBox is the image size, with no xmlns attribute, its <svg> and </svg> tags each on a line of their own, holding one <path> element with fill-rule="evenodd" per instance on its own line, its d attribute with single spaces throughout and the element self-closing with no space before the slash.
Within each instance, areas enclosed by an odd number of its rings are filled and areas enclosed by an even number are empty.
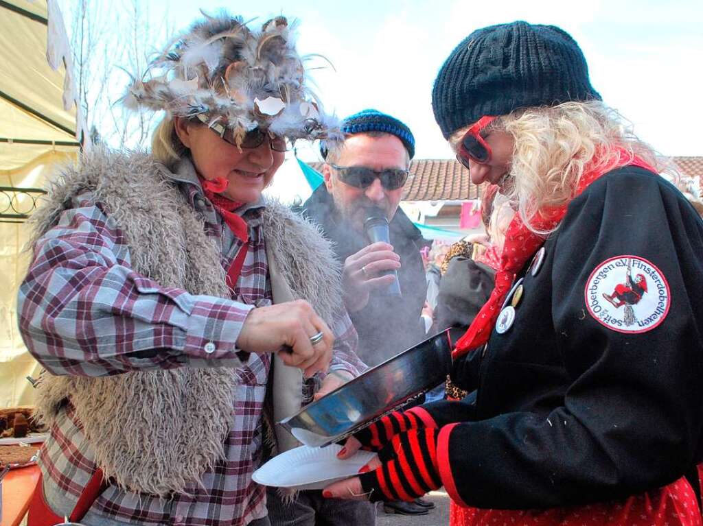
<svg viewBox="0 0 703 526">
<path fill-rule="evenodd" d="M 438 455 L 470 506 L 622 498 L 703 459 L 703 222 L 692 206 L 660 176 L 617 169 L 574 199 L 543 246 L 537 274 L 528 261 L 518 275 L 512 327 L 455 364 L 475 403 L 425 406 L 440 426 L 460 422 Z M 632 261 L 650 306 L 626 326 L 625 307 L 602 294 Z"/>
</svg>

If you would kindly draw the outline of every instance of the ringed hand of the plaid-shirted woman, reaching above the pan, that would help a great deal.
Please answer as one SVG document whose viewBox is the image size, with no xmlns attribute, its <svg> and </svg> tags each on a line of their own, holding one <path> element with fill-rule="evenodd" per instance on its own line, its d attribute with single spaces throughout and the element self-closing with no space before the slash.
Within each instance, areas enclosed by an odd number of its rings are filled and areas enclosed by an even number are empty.
<svg viewBox="0 0 703 526">
<path fill-rule="evenodd" d="M 310 338 L 323 338 L 312 344 Z M 296 300 L 254 308 L 247 315 L 237 347 L 248 353 L 277 353 L 283 363 L 303 369 L 309 377 L 326 371 L 332 359 L 335 336 L 307 301 Z"/>
</svg>

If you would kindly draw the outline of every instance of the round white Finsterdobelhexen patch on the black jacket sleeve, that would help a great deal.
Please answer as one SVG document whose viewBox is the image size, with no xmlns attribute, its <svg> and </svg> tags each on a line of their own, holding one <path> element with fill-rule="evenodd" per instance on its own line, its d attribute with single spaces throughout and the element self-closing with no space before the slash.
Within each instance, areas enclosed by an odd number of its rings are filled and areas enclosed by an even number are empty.
<svg viewBox="0 0 703 526">
<path fill-rule="evenodd" d="M 638 256 L 600 263 L 586 282 L 586 306 L 598 322 L 624 333 L 647 332 L 664 321 L 671 306 L 666 277 Z"/>
</svg>

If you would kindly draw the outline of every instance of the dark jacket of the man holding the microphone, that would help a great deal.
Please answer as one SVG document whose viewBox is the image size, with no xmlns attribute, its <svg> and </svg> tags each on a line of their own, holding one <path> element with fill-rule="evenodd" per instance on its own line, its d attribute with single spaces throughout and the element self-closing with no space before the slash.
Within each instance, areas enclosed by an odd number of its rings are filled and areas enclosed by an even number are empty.
<svg viewBox="0 0 703 526">
<path fill-rule="evenodd" d="M 320 185 L 303 205 L 304 216 L 320 225 L 323 235 L 334 242 L 339 261 L 356 254 L 369 244 L 365 235 L 352 230 L 342 221 L 332 196 Z M 368 305 L 349 313 L 359 333 L 356 353 L 373 366 L 387 360 L 425 339 L 425 327 L 420 314 L 425 305 L 427 282 L 420 248 L 425 243 L 420 230 L 405 213 L 398 209 L 389 224 L 391 244 L 401 256 L 399 281 L 402 298 L 372 292 Z"/>
</svg>

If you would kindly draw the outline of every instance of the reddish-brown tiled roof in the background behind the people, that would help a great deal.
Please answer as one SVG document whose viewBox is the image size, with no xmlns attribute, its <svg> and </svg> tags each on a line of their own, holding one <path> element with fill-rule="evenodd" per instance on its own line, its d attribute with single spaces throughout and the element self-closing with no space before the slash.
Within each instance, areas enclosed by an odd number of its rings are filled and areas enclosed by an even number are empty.
<svg viewBox="0 0 703 526">
<path fill-rule="evenodd" d="M 703 157 L 672 157 L 682 176 L 701 178 L 703 185 Z M 323 163 L 310 163 L 322 171 Z M 416 159 L 410 164 L 412 177 L 403 195 L 404 201 L 463 201 L 478 199 L 481 187 L 471 183 L 469 171 L 456 159 Z"/>
</svg>

